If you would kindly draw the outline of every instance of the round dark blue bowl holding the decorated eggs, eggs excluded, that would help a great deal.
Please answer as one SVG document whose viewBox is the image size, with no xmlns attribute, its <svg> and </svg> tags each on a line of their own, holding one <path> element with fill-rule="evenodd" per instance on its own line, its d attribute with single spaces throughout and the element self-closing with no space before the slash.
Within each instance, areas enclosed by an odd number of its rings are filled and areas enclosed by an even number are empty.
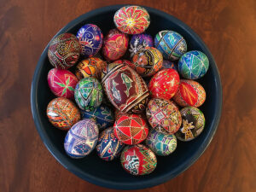
<svg viewBox="0 0 256 192">
<path fill-rule="evenodd" d="M 93 23 L 100 26 L 103 34 L 114 28 L 113 15 L 116 10 L 124 5 L 115 5 L 96 9 L 81 15 L 71 21 L 61 29 L 55 36 L 63 32 L 76 34 L 79 27 L 86 23 Z M 189 168 L 195 160 L 206 150 L 217 130 L 218 121 L 222 106 L 222 88 L 218 68 L 207 45 L 195 32 L 185 25 L 181 20 L 177 20 L 172 15 L 168 15 L 160 10 L 146 8 L 150 15 L 151 23 L 147 32 L 153 36 L 161 30 L 171 29 L 180 33 L 186 39 L 188 50 L 196 49 L 204 52 L 210 61 L 207 74 L 200 79 L 200 83 L 207 91 L 207 100 L 201 107 L 207 119 L 204 131 L 199 137 L 189 143 L 177 143 L 176 151 L 167 157 L 157 157 L 158 165 L 155 171 L 148 176 L 133 177 L 125 172 L 119 160 L 105 162 L 97 157 L 94 151 L 82 160 L 73 160 L 64 151 L 63 142 L 64 131 L 55 129 L 48 121 L 46 108 L 51 99 L 54 98 L 47 84 L 47 73 L 51 65 L 47 57 L 49 44 L 40 56 L 38 66 L 32 79 L 31 104 L 32 115 L 38 133 L 42 138 L 46 148 L 54 155 L 62 166 L 73 172 L 84 180 L 112 189 L 143 189 L 164 183 L 181 172 Z"/>
</svg>

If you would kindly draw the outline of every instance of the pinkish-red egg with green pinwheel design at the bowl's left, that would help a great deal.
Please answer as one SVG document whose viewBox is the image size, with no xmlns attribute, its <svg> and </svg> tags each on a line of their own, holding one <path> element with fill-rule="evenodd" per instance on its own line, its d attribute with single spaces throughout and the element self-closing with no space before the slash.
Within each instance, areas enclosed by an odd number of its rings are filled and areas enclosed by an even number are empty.
<svg viewBox="0 0 256 192">
<path fill-rule="evenodd" d="M 77 77 L 66 69 L 53 68 L 48 73 L 49 89 L 55 96 L 73 99 L 74 89 L 79 83 Z"/>
</svg>

